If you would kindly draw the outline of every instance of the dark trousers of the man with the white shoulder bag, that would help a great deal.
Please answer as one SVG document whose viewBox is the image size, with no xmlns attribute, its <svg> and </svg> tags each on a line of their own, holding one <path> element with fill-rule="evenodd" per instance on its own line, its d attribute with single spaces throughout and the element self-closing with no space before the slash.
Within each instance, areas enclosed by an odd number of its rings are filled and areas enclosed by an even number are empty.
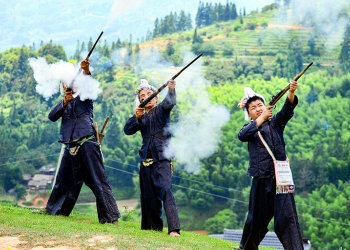
<svg viewBox="0 0 350 250">
<path fill-rule="evenodd" d="M 274 228 L 284 249 L 303 250 L 293 194 L 276 194 L 275 178 L 253 178 L 248 217 L 244 225 L 240 247 L 257 250 L 268 232 L 274 217 Z"/>
</svg>

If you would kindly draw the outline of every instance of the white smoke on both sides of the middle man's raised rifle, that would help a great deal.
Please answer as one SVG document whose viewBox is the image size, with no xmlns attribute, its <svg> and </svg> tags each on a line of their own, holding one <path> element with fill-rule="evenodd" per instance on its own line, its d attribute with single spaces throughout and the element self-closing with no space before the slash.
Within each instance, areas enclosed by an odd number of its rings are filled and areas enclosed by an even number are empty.
<svg viewBox="0 0 350 250">
<path fill-rule="evenodd" d="M 192 53 L 184 53 L 184 64 L 195 58 Z M 147 80 L 156 88 L 182 68 L 175 68 L 152 48 L 141 49 L 138 55 L 128 59 L 125 51 L 119 50 L 114 55 L 115 63 L 122 64 L 125 60 L 134 61 L 133 70 L 142 76 L 140 78 L 153 73 L 156 79 Z M 157 72 L 156 75 L 154 72 Z M 207 92 L 211 82 L 203 75 L 202 60 L 199 58 L 176 78 L 178 103 L 176 108 L 180 110 L 180 114 L 177 121 L 172 122 L 167 128 L 172 133 L 172 139 L 169 146 L 164 149 L 166 157 L 175 156 L 177 165 L 189 173 L 199 173 L 201 160 L 211 156 L 217 150 L 221 142 L 221 128 L 230 119 L 230 112 L 226 107 L 211 103 Z M 154 82 L 160 82 L 159 86 L 155 86 Z M 160 93 L 160 99 L 166 93 L 167 89 L 164 89 Z"/>
</svg>

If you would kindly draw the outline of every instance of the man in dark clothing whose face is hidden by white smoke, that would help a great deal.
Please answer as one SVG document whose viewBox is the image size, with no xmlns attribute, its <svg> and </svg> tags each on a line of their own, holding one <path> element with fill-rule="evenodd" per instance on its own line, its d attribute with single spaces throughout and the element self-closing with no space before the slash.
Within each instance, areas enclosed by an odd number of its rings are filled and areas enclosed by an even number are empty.
<svg viewBox="0 0 350 250">
<path fill-rule="evenodd" d="M 80 64 L 84 75 L 90 75 L 90 63 Z M 90 77 L 90 76 L 86 76 Z M 96 197 L 100 223 L 118 223 L 120 213 L 103 165 L 100 145 L 93 126 L 93 101 L 82 101 L 64 86 L 64 99 L 49 113 L 53 122 L 62 118 L 58 141 L 66 145 L 55 186 L 46 205 L 51 215 L 69 216 L 83 183 Z"/>
</svg>

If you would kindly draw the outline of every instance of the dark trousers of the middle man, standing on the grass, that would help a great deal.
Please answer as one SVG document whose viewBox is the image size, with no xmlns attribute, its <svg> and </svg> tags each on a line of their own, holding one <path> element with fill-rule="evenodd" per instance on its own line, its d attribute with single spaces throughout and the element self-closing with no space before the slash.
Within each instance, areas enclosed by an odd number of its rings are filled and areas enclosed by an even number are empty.
<svg viewBox="0 0 350 250">
<path fill-rule="evenodd" d="M 168 223 L 168 233 L 180 233 L 180 221 L 171 191 L 170 162 L 158 161 L 140 165 L 141 229 L 163 230 L 162 207 Z"/>
</svg>

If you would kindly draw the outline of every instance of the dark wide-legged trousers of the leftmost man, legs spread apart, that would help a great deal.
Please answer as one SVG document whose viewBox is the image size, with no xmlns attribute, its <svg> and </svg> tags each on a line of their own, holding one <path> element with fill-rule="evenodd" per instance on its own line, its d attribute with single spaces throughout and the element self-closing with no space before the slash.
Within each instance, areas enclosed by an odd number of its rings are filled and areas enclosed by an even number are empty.
<svg viewBox="0 0 350 250">
<path fill-rule="evenodd" d="M 120 213 L 106 170 L 102 162 L 99 145 L 94 141 L 85 142 L 75 156 L 64 150 L 46 210 L 51 215 L 69 216 L 85 183 L 96 197 L 100 223 L 113 222 Z"/>
</svg>

